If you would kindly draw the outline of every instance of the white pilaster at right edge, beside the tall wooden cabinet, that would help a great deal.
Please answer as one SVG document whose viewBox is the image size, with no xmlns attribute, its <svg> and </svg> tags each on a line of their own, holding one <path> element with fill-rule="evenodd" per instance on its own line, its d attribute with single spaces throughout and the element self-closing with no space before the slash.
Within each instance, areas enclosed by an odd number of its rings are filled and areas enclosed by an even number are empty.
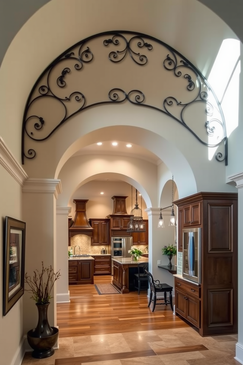
<svg viewBox="0 0 243 365">
<path fill-rule="evenodd" d="M 228 177 L 238 189 L 238 342 L 235 345 L 235 360 L 243 364 L 243 172 Z"/>
</svg>

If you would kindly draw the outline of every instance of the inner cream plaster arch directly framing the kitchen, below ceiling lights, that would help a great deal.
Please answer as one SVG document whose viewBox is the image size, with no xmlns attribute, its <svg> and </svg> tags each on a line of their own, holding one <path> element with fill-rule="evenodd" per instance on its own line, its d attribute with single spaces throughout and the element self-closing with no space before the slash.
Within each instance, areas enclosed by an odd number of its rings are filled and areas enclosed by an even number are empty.
<svg viewBox="0 0 243 365">
<path fill-rule="evenodd" d="M 157 166 L 119 155 L 83 155 L 68 160 L 59 174 L 62 193 L 58 197 L 58 205 L 67 206 L 70 196 L 80 186 L 107 174 L 138 189 L 147 207 L 157 205 Z"/>
</svg>

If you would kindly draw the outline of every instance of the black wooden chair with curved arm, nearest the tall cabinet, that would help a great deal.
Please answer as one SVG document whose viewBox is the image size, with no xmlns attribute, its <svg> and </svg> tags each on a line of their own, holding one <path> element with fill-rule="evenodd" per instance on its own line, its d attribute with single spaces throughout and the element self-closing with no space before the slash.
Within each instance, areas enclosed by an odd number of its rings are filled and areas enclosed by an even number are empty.
<svg viewBox="0 0 243 365">
<path fill-rule="evenodd" d="M 161 284 L 159 280 L 154 280 L 152 274 L 148 270 L 145 269 L 145 272 L 148 275 L 149 288 L 150 288 L 148 307 L 150 306 L 151 302 L 153 301 L 153 309 L 152 309 L 152 312 L 153 312 L 156 304 L 165 304 L 167 306 L 167 304 L 169 303 L 171 305 L 171 310 L 173 311 L 173 305 L 172 305 L 173 287 L 171 287 L 168 284 Z M 157 293 L 161 293 L 161 292 L 164 293 L 164 298 L 157 299 Z M 169 300 L 167 299 L 167 292 L 169 292 Z M 153 297 L 153 299 L 152 299 L 152 297 Z M 164 303 L 156 303 L 157 300 L 164 300 Z"/>
</svg>

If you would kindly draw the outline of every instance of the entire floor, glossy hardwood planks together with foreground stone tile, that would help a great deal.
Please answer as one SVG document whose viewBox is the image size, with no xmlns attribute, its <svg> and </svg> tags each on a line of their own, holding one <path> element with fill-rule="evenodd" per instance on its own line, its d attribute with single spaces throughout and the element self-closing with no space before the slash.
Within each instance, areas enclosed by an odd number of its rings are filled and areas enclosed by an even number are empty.
<svg viewBox="0 0 243 365">
<path fill-rule="evenodd" d="M 95 276 L 95 284 L 111 283 Z M 148 308 L 146 291 L 98 295 L 94 285 L 72 285 L 70 303 L 57 305 L 59 349 L 24 355 L 22 365 L 237 365 L 237 335 L 201 337 L 170 306 Z"/>
</svg>

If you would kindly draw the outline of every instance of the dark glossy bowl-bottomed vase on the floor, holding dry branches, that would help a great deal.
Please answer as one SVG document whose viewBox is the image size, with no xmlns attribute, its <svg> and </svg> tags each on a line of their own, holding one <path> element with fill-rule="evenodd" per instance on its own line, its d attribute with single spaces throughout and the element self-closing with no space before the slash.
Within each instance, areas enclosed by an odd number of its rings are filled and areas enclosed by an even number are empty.
<svg viewBox="0 0 243 365">
<path fill-rule="evenodd" d="M 36 359 L 43 359 L 54 354 L 53 346 L 58 339 L 58 328 L 51 327 L 48 318 L 47 310 L 50 303 L 38 304 L 38 323 L 36 328 L 28 331 L 27 340 L 29 345 L 34 351 L 32 351 L 32 357 Z"/>
</svg>

